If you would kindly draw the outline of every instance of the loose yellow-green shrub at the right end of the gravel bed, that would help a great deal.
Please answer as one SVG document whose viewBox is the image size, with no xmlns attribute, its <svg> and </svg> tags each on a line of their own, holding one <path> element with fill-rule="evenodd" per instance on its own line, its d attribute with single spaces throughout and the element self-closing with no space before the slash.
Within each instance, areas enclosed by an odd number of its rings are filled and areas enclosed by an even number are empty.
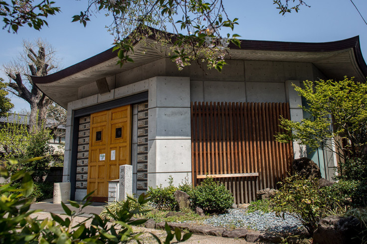
<svg viewBox="0 0 367 244">
<path fill-rule="evenodd" d="M 310 236 L 317 223 L 328 212 L 326 198 L 320 194 L 318 179 L 305 179 L 295 175 L 280 182 L 281 188 L 271 200 L 277 215 L 289 213 L 297 218 Z"/>
</svg>

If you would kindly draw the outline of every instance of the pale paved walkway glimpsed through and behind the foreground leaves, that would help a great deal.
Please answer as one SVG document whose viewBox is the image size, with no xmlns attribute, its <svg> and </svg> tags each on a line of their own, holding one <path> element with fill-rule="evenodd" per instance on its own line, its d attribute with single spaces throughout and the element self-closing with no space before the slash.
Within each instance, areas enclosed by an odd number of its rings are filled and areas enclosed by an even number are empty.
<svg viewBox="0 0 367 244">
<path fill-rule="evenodd" d="M 70 204 L 66 204 L 71 210 L 77 211 L 76 208 L 72 207 Z M 103 207 L 106 204 L 104 203 L 92 203 L 92 205 L 85 207 L 83 209 L 83 214 L 76 217 L 74 219 L 75 223 L 82 222 L 86 219 L 86 217 L 92 216 L 92 214 L 100 214 L 103 210 Z M 30 206 L 31 210 L 41 210 L 42 212 L 32 214 L 32 218 L 37 218 L 39 220 L 44 220 L 46 218 L 51 219 L 51 215 L 49 213 L 54 214 L 64 214 L 64 210 L 62 209 L 61 204 L 53 204 L 52 199 L 44 200 L 43 202 L 34 203 Z M 90 224 L 91 220 L 87 221 L 87 226 Z M 136 232 L 144 232 L 142 236 L 142 241 L 145 244 L 154 244 L 157 243 L 155 239 L 149 234 L 153 233 L 158 236 L 162 241 L 164 241 L 166 237 L 166 232 L 163 230 L 156 229 L 147 229 L 144 227 L 133 227 Z M 191 238 L 187 240 L 185 243 L 187 244 L 251 244 L 246 242 L 243 239 L 231 239 L 231 238 L 222 238 L 222 237 L 214 237 L 214 236 L 203 236 L 192 234 Z"/>
</svg>

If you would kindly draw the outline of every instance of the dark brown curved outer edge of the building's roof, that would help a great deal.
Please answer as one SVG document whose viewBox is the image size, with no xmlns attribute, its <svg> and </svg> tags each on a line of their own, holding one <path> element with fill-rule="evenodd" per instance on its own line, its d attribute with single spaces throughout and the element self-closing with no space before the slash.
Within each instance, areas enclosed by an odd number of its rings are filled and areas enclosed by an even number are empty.
<svg viewBox="0 0 367 244">
<path fill-rule="evenodd" d="M 150 36 L 149 38 L 154 39 L 154 35 Z M 228 47 L 230 49 L 288 51 L 288 52 L 331 52 L 353 48 L 358 66 L 364 73 L 364 76 L 367 77 L 367 65 L 362 55 L 359 36 L 339 41 L 314 42 L 314 43 L 241 40 L 241 48 L 237 47 L 233 43 L 230 43 Z M 32 82 L 35 83 L 36 85 L 52 83 L 54 81 L 76 74 L 82 70 L 86 70 L 95 65 L 101 64 L 105 61 L 117 57 L 117 50 L 114 52 L 112 50 L 113 47 L 97 55 L 94 55 L 84 61 L 81 61 L 77 64 L 74 64 L 72 66 L 69 66 L 63 70 L 60 70 L 56 73 L 47 76 L 41 76 L 41 77 L 31 76 Z"/>
</svg>

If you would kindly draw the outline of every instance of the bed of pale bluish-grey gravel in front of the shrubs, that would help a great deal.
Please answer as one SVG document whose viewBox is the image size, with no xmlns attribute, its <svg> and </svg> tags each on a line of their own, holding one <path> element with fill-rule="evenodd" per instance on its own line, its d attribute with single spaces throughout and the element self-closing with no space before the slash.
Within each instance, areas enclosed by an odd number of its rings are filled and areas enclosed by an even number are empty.
<svg viewBox="0 0 367 244">
<path fill-rule="evenodd" d="M 204 220 L 203 223 L 215 227 L 247 228 L 281 234 L 302 234 L 306 231 L 301 223 L 289 214 L 285 214 L 283 219 L 276 217 L 273 212 L 247 213 L 247 210 L 244 209 L 230 209 L 226 214 L 213 216 Z"/>
</svg>

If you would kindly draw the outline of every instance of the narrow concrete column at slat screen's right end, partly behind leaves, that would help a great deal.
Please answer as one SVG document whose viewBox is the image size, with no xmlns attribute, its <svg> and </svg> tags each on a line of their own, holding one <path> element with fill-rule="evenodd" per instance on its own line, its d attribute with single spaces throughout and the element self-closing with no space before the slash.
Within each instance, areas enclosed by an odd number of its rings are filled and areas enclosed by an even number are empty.
<svg viewBox="0 0 367 244">
<path fill-rule="evenodd" d="M 286 94 L 287 102 L 289 102 L 291 120 L 296 122 L 301 122 L 303 119 L 303 110 L 300 108 L 302 106 L 301 96 L 294 90 L 292 83 L 296 86 L 300 86 L 299 81 L 286 81 Z M 306 146 L 299 144 L 297 141 L 293 142 L 293 154 L 294 158 L 306 157 Z"/>
</svg>

